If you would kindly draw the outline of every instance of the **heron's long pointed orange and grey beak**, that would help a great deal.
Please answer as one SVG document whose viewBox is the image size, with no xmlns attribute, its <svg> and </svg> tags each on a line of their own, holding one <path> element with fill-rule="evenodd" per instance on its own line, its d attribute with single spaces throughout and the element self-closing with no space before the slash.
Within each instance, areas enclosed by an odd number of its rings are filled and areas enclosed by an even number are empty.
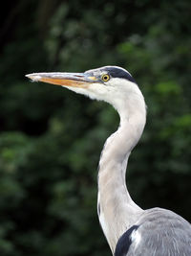
<svg viewBox="0 0 191 256">
<path fill-rule="evenodd" d="M 81 88 L 87 88 L 90 83 L 96 81 L 96 77 L 90 77 L 90 74 L 88 75 L 85 73 L 32 73 L 26 75 L 26 77 L 32 81 L 44 81 L 61 86 L 74 86 Z"/>
</svg>

